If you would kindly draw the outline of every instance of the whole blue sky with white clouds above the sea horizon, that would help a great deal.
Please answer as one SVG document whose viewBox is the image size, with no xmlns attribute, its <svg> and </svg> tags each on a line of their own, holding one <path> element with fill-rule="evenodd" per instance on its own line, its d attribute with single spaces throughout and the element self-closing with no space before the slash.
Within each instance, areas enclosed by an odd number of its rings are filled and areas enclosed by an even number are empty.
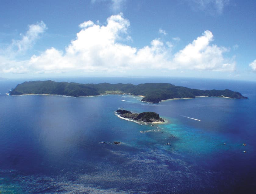
<svg viewBox="0 0 256 194">
<path fill-rule="evenodd" d="M 255 0 L 0 1 L 0 77 L 256 81 Z"/>
</svg>

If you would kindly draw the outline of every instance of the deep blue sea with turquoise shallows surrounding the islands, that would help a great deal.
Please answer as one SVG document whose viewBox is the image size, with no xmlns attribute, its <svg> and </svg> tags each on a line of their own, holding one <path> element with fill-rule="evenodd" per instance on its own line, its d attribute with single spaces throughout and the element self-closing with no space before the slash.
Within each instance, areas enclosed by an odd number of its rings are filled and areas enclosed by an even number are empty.
<svg viewBox="0 0 256 194">
<path fill-rule="evenodd" d="M 200 97 L 150 104 L 132 95 L 8 96 L 11 88 L 29 80 L 0 80 L 1 193 L 256 192 L 256 82 L 52 80 L 168 82 L 197 89 L 228 88 L 249 99 Z M 168 122 L 140 125 L 117 117 L 119 108 L 156 112 Z"/>
</svg>

